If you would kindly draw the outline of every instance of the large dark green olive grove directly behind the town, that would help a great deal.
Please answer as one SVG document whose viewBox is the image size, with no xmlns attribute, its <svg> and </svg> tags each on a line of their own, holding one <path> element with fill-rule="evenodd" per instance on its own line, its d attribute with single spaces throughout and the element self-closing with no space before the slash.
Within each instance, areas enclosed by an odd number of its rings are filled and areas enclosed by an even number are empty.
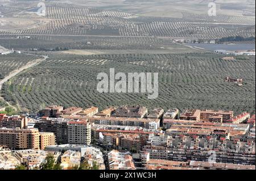
<svg viewBox="0 0 256 181">
<path fill-rule="evenodd" d="M 255 57 L 222 60 L 213 53 L 182 54 L 50 54 L 46 61 L 6 82 L 2 96 L 23 111 L 42 106 L 97 106 L 141 104 L 148 108 L 211 108 L 255 112 Z M 159 97 L 146 94 L 100 94 L 97 74 L 158 72 Z M 226 76 L 243 78 L 243 86 L 224 82 Z"/>
</svg>

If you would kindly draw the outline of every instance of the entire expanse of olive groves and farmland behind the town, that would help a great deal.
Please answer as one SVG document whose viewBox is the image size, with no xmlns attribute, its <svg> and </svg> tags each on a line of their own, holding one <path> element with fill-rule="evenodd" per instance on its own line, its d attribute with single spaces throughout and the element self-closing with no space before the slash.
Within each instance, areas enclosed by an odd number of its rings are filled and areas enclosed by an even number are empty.
<svg viewBox="0 0 256 181">
<path fill-rule="evenodd" d="M 174 41 L 255 37 L 255 16 L 246 14 L 255 2 L 242 1 L 215 1 L 217 15 L 209 16 L 210 1 L 201 0 L 56 0 L 44 2 L 42 16 L 36 14 L 38 1 L 0 0 L 0 46 L 49 56 L 5 82 L 1 96 L 22 111 L 50 104 L 142 104 L 255 112 L 255 57 L 222 60 Z M 2 77 L 35 59 L 11 56 L 0 57 Z M 159 98 L 99 94 L 96 76 L 110 68 L 158 72 Z M 226 76 L 245 82 L 227 83 Z"/>
</svg>

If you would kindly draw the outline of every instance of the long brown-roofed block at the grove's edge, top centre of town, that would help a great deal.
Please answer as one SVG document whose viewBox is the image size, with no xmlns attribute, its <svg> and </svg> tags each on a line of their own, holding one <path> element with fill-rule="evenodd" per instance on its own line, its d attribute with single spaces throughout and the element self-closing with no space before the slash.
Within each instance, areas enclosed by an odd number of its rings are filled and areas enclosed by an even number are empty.
<svg viewBox="0 0 256 181">
<path fill-rule="evenodd" d="M 147 108 L 143 106 L 121 106 L 112 115 L 113 117 L 147 117 Z"/>
</svg>

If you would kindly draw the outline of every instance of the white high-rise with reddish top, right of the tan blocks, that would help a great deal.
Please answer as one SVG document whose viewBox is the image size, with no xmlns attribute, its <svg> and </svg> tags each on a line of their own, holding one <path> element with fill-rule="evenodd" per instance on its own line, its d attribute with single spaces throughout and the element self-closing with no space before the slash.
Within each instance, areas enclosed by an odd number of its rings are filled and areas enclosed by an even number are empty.
<svg viewBox="0 0 256 181">
<path fill-rule="evenodd" d="M 90 145 L 91 124 L 87 121 L 68 121 L 68 143 Z"/>
</svg>

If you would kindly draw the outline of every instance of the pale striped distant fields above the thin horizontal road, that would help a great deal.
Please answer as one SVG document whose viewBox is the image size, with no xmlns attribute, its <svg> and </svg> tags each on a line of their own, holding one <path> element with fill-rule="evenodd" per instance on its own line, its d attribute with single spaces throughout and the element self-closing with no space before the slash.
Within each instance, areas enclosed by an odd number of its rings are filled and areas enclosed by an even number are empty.
<svg viewBox="0 0 256 181">
<path fill-rule="evenodd" d="M 28 13 L 32 7 L 36 7 L 35 2 L 31 4 L 26 1 L 25 3 L 20 2 L 20 4 L 19 2 L 5 3 L 0 8 L 0 11 L 5 10 L 3 11 L 5 18 L 0 18 L 3 22 L 0 26 L 0 35 L 97 36 L 103 37 L 102 41 L 108 36 L 197 39 L 255 36 L 255 17 L 230 15 L 222 11 L 216 16 L 208 16 L 207 11 L 177 10 L 181 16 L 175 18 L 143 16 L 125 10 L 45 2 L 46 15 L 39 16 Z M 14 5 L 20 8 L 7 12 L 6 8 Z M 20 19 L 28 23 L 26 28 L 22 26 Z M 15 26 L 16 28 L 14 28 Z"/>
</svg>

